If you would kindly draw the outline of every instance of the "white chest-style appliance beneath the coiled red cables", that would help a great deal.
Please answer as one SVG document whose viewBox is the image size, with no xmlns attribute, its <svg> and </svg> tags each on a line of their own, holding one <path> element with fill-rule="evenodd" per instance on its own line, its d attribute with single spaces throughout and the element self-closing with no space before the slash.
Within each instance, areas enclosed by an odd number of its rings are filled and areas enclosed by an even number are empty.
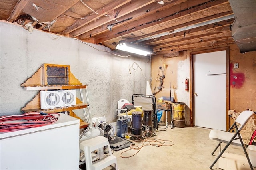
<svg viewBox="0 0 256 170">
<path fill-rule="evenodd" d="M 0 133 L 0 169 L 74 170 L 79 154 L 79 119 L 63 113 L 50 125 Z"/>
</svg>

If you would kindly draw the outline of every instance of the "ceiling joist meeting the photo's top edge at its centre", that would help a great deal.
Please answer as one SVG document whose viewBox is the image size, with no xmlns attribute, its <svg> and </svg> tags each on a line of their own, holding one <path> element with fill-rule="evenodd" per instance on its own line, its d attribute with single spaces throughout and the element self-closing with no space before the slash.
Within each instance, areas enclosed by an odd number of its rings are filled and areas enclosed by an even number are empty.
<svg viewBox="0 0 256 170">
<path fill-rule="evenodd" d="M 94 20 L 97 20 L 99 17 L 105 15 L 105 14 L 108 14 L 110 11 L 112 11 L 113 9 L 116 9 L 120 6 L 123 6 L 124 4 L 127 4 L 129 3 L 131 0 L 125 0 L 125 1 L 115 1 L 113 3 L 110 3 L 108 4 L 107 6 L 104 6 L 103 8 L 100 8 L 99 10 L 97 10 L 96 12 L 98 14 L 95 14 L 95 13 L 91 13 L 87 16 L 85 16 L 85 19 L 84 20 L 78 20 L 76 21 L 74 24 L 72 24 L 72 26 L 69 26 L 68 28 L 66 28 L 66 30 L 60 32 L 59 34 L 68 34 L 90 22 L 93 22 Z M 76 37 L 76 36 L 73 36 L 73 37 Z"/>
</svg>

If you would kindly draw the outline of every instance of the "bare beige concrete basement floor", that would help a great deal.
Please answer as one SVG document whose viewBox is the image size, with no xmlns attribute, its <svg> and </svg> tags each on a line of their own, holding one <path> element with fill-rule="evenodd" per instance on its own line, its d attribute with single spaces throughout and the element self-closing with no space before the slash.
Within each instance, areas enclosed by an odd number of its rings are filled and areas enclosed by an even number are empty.
<svg viewBox="0 0 256 170">
<path fill-rule="evenodd" d="M 217 141 L 209 139 L 209 132 L 210 129 L 200 127 L 171 129 L 170 126 L 166 128 L 165 125 L 159 125 L 156 136 L 151 138 L 165 140 L 165 144 L 168 145 L 173 142 L 172 146 L 144 146 L 134 156 L 132 154 L 138 150 L 124 152 L 129 148 L 115 151 L 113 154 L 117 158 L 119 170 L 208 170 L 216 158 L 211 152 L 218 144 Z M 225 144 L 222 144 L 222 148 L 224 146 Z M 218 154 L 218 150 L 215 155 Z M 239 146 L 229 146 L 226 152 L 245 156 L 242 147 Z M 122 158 L 120 154 L 131 157 Z M 219 169 L 218 162 L 212 169 Z"/>
</svg>

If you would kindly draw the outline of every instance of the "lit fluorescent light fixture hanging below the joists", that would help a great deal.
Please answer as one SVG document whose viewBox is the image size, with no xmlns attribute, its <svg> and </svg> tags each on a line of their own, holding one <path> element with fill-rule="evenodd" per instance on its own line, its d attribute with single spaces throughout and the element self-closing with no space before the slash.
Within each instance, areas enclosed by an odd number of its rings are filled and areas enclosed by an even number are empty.
<svg viewBox="0 0 256 170">
<path fill-rule="evenodd" d="M 124 41 L 120 41 L 119 44 L 116 45 L 116 49 L 144 56 L 153 53 L 152 49 Z"/>
</svg>

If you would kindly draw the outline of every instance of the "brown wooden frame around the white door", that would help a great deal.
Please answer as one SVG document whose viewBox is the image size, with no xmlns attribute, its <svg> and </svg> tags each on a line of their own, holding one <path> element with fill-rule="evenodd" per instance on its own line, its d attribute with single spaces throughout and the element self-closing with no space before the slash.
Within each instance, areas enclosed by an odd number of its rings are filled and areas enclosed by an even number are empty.
<svg viewBox="0 0 256 170">
<path fill-rule="evenodd" d="M 230 109 L 230 84 L 229 84 L 229 46 L 227 47 L 220 47 L 215 49 L 206 49 L 201 51 L 192 51 L 190 52 L 190 127 L 193 127 L 195 125 L 194 123 L 194 58 L 193 55 L 195 54 L 202 54 L 202 53 L 210 53 L 210 52 L 216 52 L 216 51 L 224 51 L 226 50 L 226 130 L 230 127 L 230 119 L 228 118 L 228 110 Z"/>
</svg>

